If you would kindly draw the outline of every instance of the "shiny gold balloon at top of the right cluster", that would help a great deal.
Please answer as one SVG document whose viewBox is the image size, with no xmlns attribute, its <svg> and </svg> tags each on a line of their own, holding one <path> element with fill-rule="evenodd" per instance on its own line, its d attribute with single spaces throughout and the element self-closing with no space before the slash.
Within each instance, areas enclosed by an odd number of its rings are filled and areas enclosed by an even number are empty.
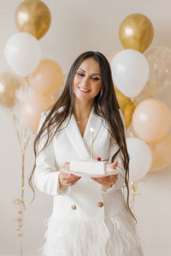
<svg viewBox="0 0 171 256">
<path fill-rule="evenodd" d="M 144 52 L 153 39 L 154 28 L 145 15 L 133 14 L 121 22 L 119 33 L 124 48 Z"/>
</svg>

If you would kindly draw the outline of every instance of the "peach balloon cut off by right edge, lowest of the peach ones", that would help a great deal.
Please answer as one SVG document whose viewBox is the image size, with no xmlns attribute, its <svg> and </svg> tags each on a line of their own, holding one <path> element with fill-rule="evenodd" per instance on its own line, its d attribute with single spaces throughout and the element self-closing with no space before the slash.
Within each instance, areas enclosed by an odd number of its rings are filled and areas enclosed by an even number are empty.
<svg viewBox="0 0 171 256">
<path fill-rule="evenodd" d="M 149 146 L 152 154 L 150 170 L 161 170 L 171 164 L 171 134 Z"/>
</svg>

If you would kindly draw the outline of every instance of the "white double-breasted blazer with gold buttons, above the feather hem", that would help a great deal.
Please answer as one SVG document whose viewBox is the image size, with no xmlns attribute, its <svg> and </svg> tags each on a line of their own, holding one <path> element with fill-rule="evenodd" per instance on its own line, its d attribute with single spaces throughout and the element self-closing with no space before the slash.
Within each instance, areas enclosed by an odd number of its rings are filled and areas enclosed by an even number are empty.
<svg viewBox="0 0 171 256">
<path fill-rule="evenodd" d="M 45 115 L 44 112 L 38 129 L 44 122 Z M 90 127 L 94 128 L 93 154 L 95 159 L 109 158 L 110 163 L 111 157 L 118 150 L 115 141 L 111 143 L 103 118 L 97 116 L 93 109 L 83 137 L 74 115 L 71 116 L 69 123 L 68 121 L 69 118 L 62 124 L 64 129 L 57 132 L 50 145 L 38 155 L 33 176 L 34 184 L 43 193 L 53 196 L 53 217 L 69 220 L 94 220 L 114 216 L 127 207 L 121 192 L 124 186 L 125 170 L 120 155 L 117 156 L 117 160 L 121 173 L 112 188 L 103 188 L 90 177 L 81 177 L 74 186 L 59 188 L 58 175 L 62 164 L 72 159 L 90 160 Z M 44 140 L 45 138 L 40 140 L 39 149 L 44 146 Z"/>
</svg>

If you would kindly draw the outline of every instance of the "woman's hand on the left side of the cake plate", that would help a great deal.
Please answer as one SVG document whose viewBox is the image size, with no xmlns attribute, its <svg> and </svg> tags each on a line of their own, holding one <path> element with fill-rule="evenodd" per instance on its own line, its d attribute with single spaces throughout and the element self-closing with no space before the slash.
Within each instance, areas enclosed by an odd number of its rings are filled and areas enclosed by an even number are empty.
<svg viewBox="0 0 171 256">
<path fill-rule="evenodd" d="M 80 180 L 79 176 L 74 176 L 72 173 L 68 173 L 62 169 L 69 170 L 69 163 L 66 162 L 62 165 L 62 168 L 59 172 L 59 184 L 62 186 L 73 186 L 76 182 Z"/>
</svg>

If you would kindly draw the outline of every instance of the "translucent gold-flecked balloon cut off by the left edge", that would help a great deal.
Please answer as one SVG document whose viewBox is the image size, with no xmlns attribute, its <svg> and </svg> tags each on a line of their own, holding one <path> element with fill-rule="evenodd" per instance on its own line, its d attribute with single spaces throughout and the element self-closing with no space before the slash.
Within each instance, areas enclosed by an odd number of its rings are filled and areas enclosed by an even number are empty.
<svg viewBox="0 0 171 256">
<path fill-rule="evenodd" d="M 27 94 L 27 81 L 21 77 L 5 72 L 0 74 L 0 104 L 14 110 L 22 101 L 22 96 Z"/>
</svg>

